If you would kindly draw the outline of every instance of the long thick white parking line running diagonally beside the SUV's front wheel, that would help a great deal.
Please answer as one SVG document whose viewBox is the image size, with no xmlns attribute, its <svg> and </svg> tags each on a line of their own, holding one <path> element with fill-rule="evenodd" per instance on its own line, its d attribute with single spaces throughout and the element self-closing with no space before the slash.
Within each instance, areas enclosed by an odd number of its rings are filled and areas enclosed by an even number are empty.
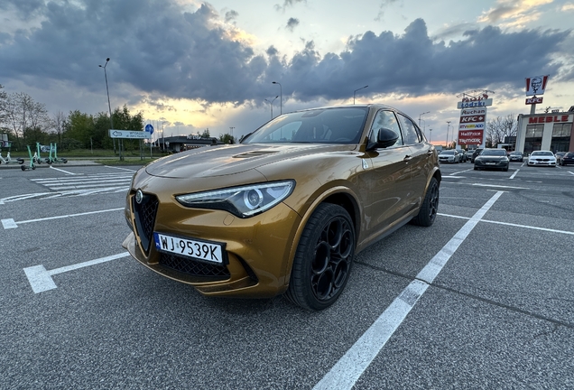
<svg viewBox="0 0 574 390">
<path fill-rule="evenodd" d="M 403 320 L 412 310 L 414 304 L 419 301 L 422 294 L 427 290 L 430 283 L 440 273 L 450 256 L 458 246 L 468 237 L 468 234 L 477 226 L 477 223 L 485 216 L 486 212 L 495 204 L 504 192 L 496 192 L 468 222 L 458 230 L 447 245 L 430 259 L 430 262 L 422 268 L 417 278 L 413 280 L 401 294 L 395 298 L 391 305 L 375 320 L 375 323 L 366 330 L 356 343 L 347 350 L 333 366 L 327 375 L 319 381 L 313 389 L 351 389 L 356 380 L 379 354 L 388 339 L 393 336 L 395 330 L 403 323 Z"/>
</svg>

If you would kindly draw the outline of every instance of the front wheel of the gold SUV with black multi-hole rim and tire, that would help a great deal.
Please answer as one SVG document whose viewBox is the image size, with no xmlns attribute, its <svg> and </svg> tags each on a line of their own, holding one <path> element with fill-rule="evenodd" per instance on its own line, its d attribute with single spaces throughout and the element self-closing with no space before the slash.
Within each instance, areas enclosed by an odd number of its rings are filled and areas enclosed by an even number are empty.
<svg viewBox="0 0 574 390">
<path fill-rule="evenodd" d="M 285 297 L 310 311 L 327 309 L 345 289 L 356 237 L 347 210 L 320 204 L 305 226 Z"/>
</svg>

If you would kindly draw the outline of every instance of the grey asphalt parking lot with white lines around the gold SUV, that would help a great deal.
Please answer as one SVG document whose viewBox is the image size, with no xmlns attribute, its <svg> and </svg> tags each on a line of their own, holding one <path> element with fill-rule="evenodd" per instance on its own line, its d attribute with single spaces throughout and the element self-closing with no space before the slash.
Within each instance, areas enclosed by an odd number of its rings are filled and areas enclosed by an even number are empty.
<svg viewBox="0 0 574 390">
<path fill-rule="evenodd" d="M 574 167 L 442 164 L 440 215 L 326 311 L 206 298 L 121 244 L 136 167 L 0 170 L 0 388 L 574 388 Z"/>
</svg>

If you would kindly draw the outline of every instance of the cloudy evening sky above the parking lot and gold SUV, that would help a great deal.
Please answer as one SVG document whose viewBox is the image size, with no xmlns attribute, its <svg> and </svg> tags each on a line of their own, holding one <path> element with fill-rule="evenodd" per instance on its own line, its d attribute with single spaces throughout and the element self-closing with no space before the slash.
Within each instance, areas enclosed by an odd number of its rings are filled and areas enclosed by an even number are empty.
<svg viewBox="0 0 574 390">
<path fill-rule="evenodd" d="M 463 93 L 487 91 L 488 119 L 528 114 L 525 78 L 550 75 L 536 112 L 574 106 L 572 26 L 574 0 L 0 0 L 0 84 L 96 115 L 107 77 L 154 136 L 382 103 L 446 144 Z"/>
</svg>

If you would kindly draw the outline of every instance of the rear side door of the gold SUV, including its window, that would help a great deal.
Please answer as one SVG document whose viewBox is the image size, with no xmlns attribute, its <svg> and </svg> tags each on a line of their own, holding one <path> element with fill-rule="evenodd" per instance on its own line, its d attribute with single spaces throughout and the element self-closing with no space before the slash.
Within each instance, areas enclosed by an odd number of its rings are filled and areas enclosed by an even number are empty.
<svg viewBox="0 0 574 390">
<path fill-rule="evenodd" d="M 403 130 L 404 143 L 411 149 L 409 168 L 412 181 L 407 194 L 408 209 L 411 210 L 418 207 L 424 199 L 427 181 L 433 169 L 432 154 L 435 151 L 430 144 L 424 142 L 421 129 L 409 117 L 401 113 L 397 113 L 397 116 Z M 457 158 L 456 154 L 455 158 Z"/>
</svg>

